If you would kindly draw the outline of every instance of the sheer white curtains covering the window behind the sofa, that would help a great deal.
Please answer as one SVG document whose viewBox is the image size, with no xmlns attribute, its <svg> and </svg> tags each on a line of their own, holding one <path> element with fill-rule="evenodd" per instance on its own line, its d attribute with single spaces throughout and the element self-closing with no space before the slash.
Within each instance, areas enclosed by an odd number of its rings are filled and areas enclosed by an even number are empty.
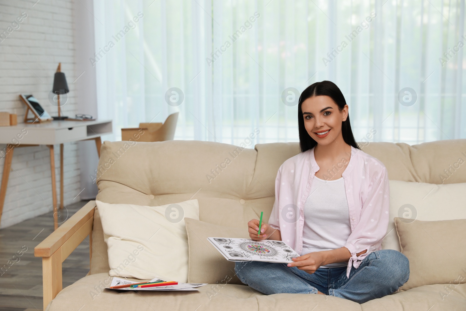
<svg viewBox="0 0 466 311">
<path fill-rule="evenodd" d="M 466 138 L 462 0 L 95 0 L 94 15 L 107 139 L 179 111 L 175 139 L 298 141 L 299 92 L 322 80 L 356 141 Z"/>
</svg>

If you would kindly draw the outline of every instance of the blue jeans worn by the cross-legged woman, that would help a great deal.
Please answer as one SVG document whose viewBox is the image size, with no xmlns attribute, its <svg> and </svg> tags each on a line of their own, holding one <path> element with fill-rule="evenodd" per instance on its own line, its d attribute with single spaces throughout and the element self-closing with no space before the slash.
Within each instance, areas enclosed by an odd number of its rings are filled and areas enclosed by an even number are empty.
<svg viewBox="0 0 466 311">
<path fill-rule="evenodd" d="M 319 268 L 309 274 L 287 263 L 236 262 L 235 273 L 244 284 L 271 295 L 317 294 L 349 299 L 359 304 L 397 291 L 408 281 L 409 261 L 397 250 L 381 249 L 367 255 L 356 269 Z"/>
</svg>

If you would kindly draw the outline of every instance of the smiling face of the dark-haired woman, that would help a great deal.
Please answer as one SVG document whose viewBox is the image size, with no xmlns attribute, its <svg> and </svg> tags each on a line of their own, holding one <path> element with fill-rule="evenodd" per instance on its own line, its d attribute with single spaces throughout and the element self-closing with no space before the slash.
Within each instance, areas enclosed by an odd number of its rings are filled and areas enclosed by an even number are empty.
<svg viewBox="0 0 466 311">
<path fill-rule="evenodd" d="M 332 98 L 321 95 L 306 99 L 302 102 L 301 109 L 304 127 L 318 144 L 328 145 L 339 137 L 343 140 L 342 122 L 348 116 L 348 105 L 339 111 Z"/>
</svg>

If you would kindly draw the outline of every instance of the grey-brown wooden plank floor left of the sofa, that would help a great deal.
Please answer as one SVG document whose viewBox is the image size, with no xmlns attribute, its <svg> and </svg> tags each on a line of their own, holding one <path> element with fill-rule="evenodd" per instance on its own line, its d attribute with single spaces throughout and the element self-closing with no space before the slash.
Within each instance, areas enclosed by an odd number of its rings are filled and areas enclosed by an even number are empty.
<svg viewBox="0 0 466 311">
<path fill-rule="evenodd" d="M 61 217 L 66 217 L 67 211 L 71 217 L 87 202 L 67 206 Z M 0 311 L 42 310 L 42 258 L 34 257 L 34 247 L 53 231 L 53 212 L 0 229 Z M 18 256 L 17 252 L 24 250 Z M 89 236 L 63 262 L 62 270 L 63 288 L 86 276 Z"/>
</svg>

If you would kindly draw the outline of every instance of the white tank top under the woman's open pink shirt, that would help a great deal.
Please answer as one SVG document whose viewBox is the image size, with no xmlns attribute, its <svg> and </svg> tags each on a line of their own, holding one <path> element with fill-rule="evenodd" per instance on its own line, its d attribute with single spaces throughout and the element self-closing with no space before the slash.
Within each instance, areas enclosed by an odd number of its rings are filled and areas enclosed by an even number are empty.
<svg viewBox="0 0 466 311">
<path fill-rule="evenodd" d="M 343 177 L 322 180 L 314 176 L 304 203 L 302 253 L 339 249 L 351 233 L 349 207 Z M 330 263 L 320 268 L 346 267 L 348 262 Z"/>
</svg>

